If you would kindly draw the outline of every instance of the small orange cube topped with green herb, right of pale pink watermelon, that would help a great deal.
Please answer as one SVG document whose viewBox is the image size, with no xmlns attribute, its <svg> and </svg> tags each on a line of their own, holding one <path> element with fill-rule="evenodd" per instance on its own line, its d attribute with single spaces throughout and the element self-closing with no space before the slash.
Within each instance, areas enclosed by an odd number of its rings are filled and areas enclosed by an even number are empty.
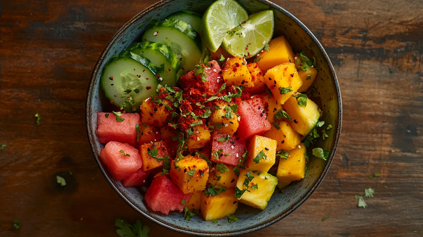
<svg viewBox="0 0 423 237">
<path fill-rule="evenodd" d="M 165 156 L 168 156 L 167 144 L 164 141 L 147 143 L 140 146 L 141 159 L 143 160 L 143 171 L 148 171 L 163 165 Z"/>
</svg>

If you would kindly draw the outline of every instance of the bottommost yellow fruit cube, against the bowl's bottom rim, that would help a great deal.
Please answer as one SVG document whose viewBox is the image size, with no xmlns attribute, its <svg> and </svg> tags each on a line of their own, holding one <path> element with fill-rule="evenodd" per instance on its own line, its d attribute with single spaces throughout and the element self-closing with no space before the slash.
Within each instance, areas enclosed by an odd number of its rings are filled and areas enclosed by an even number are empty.
<svg viewBox="0 0 423 237">
<path fill-rule="evenodd" d="M 216 196 L 201 194 L 201 215 L 204 220 L 217 220 L 232 215 L 238 207 L 233 188 L 226 189 Z"/>
</svg>

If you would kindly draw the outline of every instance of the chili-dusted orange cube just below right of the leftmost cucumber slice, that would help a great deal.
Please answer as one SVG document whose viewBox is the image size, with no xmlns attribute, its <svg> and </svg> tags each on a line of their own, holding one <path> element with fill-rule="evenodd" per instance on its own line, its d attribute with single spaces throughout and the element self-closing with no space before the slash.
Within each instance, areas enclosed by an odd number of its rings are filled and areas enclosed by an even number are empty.
<svg viewBox="0 0 423 237">
<path fill-rule="evenodd" d="M 156 127 L 163 127 L 167 124 L 170 112 L 165 108 L 165 103 L 161 100 L 152 101 L 147 98 L 141 104 L 141 122 Z"/>
</svg>

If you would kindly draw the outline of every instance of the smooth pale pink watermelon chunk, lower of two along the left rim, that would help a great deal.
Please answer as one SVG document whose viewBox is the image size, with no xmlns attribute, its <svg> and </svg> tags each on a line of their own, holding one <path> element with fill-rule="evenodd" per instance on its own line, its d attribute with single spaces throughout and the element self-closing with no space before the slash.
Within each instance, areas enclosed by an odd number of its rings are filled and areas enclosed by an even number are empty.
<svg viewBox="0 0 423 237">
<path fill-rule="evenodd" d="M 104 146 L 100 158 L 116 180 L 128 178 L 143 166 L 143 160 L 135 147 L 116 141 Z"/>
</svg>

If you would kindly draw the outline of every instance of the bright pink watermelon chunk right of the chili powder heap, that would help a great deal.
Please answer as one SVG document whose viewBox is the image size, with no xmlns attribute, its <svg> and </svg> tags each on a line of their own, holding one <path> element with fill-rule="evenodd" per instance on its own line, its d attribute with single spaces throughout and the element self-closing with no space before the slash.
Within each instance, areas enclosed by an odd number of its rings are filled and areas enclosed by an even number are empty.
<svg viewBox="0 0 423 237">
<path fill-rule="evenodd" d="M 242 139 L 249 139 L 270 130 L 270 123 L 264 108 L 263 98 L 255 96 L 239 104 L 237 113 L 241 116 L 236 135 Z"/>
</svg>

